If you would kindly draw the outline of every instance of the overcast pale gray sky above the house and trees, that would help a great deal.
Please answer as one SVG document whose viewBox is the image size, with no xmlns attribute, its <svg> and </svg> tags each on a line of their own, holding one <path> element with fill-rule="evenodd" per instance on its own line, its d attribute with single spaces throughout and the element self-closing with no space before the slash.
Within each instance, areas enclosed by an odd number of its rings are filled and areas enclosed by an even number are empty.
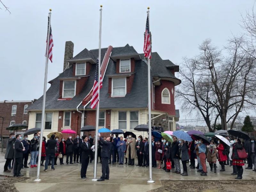
<svg viewBox="0 0 256 192">
<path fill-rule="evenodd" d="M 74 56 L 85 47 L 98 48 L 100 4 L 102 47 L 128 43 L 142 53 L 149 6 L 152 51 L 175 64 L 198 54 L 198 44 L 205 38 L 222 47 L 231 33 L 241 33 L 240 13 L 254 4 L 254 0 L 2 1 L 12 14 L 0 4 L 0 100 L 33 100 L 42 95 L 49 8 L 54 47 L 48 81 L 62 72 L 65 41 L 75 44 Z M 176 108 L 180 108 L 177 103 Z"/>
</svg>

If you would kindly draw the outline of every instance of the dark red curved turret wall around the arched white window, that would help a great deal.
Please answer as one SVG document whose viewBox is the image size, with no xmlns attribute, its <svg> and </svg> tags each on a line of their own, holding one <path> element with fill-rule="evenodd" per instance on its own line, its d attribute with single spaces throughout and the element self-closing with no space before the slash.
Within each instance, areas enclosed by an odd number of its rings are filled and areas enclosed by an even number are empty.
<svg viewBox="0 0 256 192">
<path fill-rule="evenodd" d="M 172 94 L 172 88 L 174 91 L 174 83 L 167 80 L 161 80 L 161 83 L 161 85 L 155 87 L 155 109 L 175 116 L 174 92 Z M 169 89 L 171 104 L 162 104 L 162 91 L 164 88 Z"/>
</svg>

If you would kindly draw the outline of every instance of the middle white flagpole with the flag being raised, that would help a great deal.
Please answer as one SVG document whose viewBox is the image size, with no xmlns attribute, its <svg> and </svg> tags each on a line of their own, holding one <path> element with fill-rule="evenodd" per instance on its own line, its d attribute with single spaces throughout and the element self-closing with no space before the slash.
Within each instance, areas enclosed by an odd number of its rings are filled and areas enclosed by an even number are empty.
<svg viewBox="0 0 256 192">
<path fill-rule="evenodd" d="M 98 159 L 98 129 L 99 129 L 99 116 L 100 116 L 100 56 L 101 56 L 101 20 L 102 20 L 102 5 L 100 5 L 100 32 L 99 32 L 99 67 L 98 67 L 98 97 L 96 111 L 96 128 L 95 128 L 95 153 L 94 153 L 94 173 L 92 181 L 97 181 L 97 159 Z"/>
</svg>

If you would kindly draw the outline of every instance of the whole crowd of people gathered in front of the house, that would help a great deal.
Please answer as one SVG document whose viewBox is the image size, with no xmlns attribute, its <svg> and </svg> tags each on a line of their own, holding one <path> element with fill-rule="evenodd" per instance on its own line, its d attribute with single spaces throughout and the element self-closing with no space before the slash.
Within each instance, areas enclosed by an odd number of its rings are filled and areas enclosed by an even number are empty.
<svg viewBox="0 0 256 192">
<path fill-rule="evenodd" d="M 41 162 L 39 164 L 44 166 L 44 172 L 47 172 L 48 165 L 51 165 L 51 170 L 54 171 L 54 165 L 57 164 L 59 158 L 60 165 L 63 163 L 63 158 L 66 156 L 66 164 L 80 163 L 81 166 L 81 179 L 89 179 L 86 177 L 86 170 L 89 162 L 92 163 L 93 152 L 95 151 L 95 142 L 98 142 L 98 159 L 102 164 L 102 177 L 99 181 L 109 179 L 109 167 L 108 164 L 119 165 L 128 164 L 133 166 L 135 164 L 135 158 L 137 157 L 137 166 L 148 167 L 149 166 L 149 139 L 140 135 L 136 140 L 134 134 L 129 134 L 126 138 L 119 137 L 118 134 L 111 134 L 110 137 L 101 137 L 98 135 L 98 139 L 95 140 L 91 135 L 83 136 L 77 134 L 76 138 L 72 138 L 70 135 L 67 140 L 62 137 L 60 140 L 54 134 L 46 141 L 43 137 Z M 28 135 L 24 135 L 22 139 L 21 135 L 10 134 L 8 140 L 4 164 L 4 172 L 11 172 L 13 168 L 14 176 L 23 176 L 20 172 L 22 168 L 37 167 L 38 164 L 38 151 L 39 151 L 39 139 L 40 136 L 35 133 L 32 140 L 28 140 Z M 230 140 L 230 146 L 223 143 L 222 140 L 213 138 L 210 141 L 210 145 L 206 145 L 203 139 L 194 140 L 191 142 L 178 139 L 176 136 L 172 137 L 173 142 L 161 138 L 156 139 L 151 137 L 152 144 L 152 167 L 157 169 L 163 169 L 165 172 L 171 172 L 175 174 L 181 174 L 182 176 L 188 176 L 187 163 L 190 162 L 190 169 L 197 169 L 197 172 L 201 172 L 201 176 L 207 176 L 206 162 L 210 166 L 210 171 L 217 172 L 217 160 L 221 166 L 220 172 L 224 172 L 225 166 L 229 165 L 233 167 L 231 175 L 237 175 L 235 179 L 242 179 L 243 166 L 245 159 L 247 159 L 248 167 L 245 169 L 252 169 L 256 171 L 256 145 L 255 138 L 251 137 L 250 140 L 241 142 L 239 138 Z M 245 158 L 241 158 L 241 151 L 246 151 Z M 28 157 L 30 153 L 30 161 L 28 163 Z M 197 166 L 195 159 L 197 159 Z M 180 160 L 183 167 L 183 172 L 180 168 Z M 44 163 L 45 161 L 45 163 Z M 14 162 L 14 164 L 13 164 Z"/>
</svg>

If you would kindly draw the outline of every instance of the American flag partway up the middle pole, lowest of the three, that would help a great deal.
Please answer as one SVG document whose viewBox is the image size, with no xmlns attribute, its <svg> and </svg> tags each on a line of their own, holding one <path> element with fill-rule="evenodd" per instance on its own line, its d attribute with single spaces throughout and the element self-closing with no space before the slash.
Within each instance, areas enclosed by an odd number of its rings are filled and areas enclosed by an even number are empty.
<svg viewBox="0 0 256 192">
<path fill-rule="evenodd" d="M 98 70 L 99 70 L 99 59 L 97 59 L 97 65 L 95 70 L 95 78 L 93 84 L 91 108 L 94 109 L 99 102 L 99 85 L 98 85 Z M 100 74 L 100 89 L 102 87 L 102 78 Z"/>
</svg>

